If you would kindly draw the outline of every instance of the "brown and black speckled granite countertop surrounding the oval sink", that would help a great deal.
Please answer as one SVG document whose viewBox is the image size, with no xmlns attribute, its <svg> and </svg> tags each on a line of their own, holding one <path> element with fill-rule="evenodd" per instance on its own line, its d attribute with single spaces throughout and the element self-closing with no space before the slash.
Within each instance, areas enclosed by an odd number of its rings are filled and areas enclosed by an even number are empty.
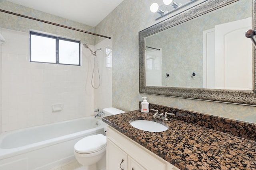
<svg viewBox="0 0 256 170">
<path fill-rule="evenodd" d="M 161 121 L 140 110 L 103 117 L 102 121 L 181 170 L 256 170 L 256 142 L 177 119 Z M 131 119 L 166 123 L 164 132 L 147 132 Z"/>
</svg>

